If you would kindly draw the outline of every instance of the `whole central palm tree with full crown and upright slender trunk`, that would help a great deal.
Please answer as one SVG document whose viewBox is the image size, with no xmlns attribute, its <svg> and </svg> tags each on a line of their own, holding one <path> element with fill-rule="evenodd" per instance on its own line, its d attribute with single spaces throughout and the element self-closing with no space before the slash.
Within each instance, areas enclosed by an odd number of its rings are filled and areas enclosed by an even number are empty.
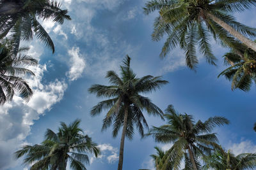
<svg viewBox="0 0 256 170">
<path fill-rule="evenodd" d="M 143 76 L 138 78 L 130 67 L 131 58 L 127 55 L 121 68 L 121 78 L 115 71 L 108 71 L 106 78 L 109 79 L 111 85 L 92 85 L 89 92 L 97 94 L 97 97 L 108 97 L 106 101 L 102 101 L 91 110 L 91 115 L 95 116 L 102 110 L 108 110 L 103 120 L 102 131 L 108 128 L 113 122 L 113 137 L 115 138 L 118 131 L 123 126 L 122 138 L 120 143 L 120 153 L 118 170 L 122 169 L 124 158 L 124 140 L 125 136 L 132 139 L 134 134 L 134 124 L 136 125 L 140 135 L 144 135 L 144 127 L 148 128 L 147 121 L 142 111 L 147 111 L 148 115 L 159 116 L 163 118 L 163 112 L 150 99 L 140 94 L 152 92 L 160 89 L 160 87 L 168 81 L 161 80 L 157 76 Z"/>
</svg>

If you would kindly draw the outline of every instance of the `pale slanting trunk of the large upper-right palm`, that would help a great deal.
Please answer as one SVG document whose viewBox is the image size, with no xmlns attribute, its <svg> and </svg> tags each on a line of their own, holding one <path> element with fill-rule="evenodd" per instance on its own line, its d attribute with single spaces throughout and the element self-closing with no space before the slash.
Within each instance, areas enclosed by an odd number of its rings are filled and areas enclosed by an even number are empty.
<svg viewBox="0 0 256 170">
<path fill-rule="evenodd" d="M 215 17 L 214 15 L 212 15 L 211 13 L 207 13 L 207 15 L 217 24 L 219 24 L 221 27 L 223 27 L 223 29 L 225 29 L 226 31 L 228 31 L 230 34 L 232 34 L 232 36 L 234 36 L 235 38 L 239 39 L 242 43 L 244 43 L 244 45 L 248 46 L 249 48 L 251 48 L 252 50 L 254 50 L 256 52 L 256 43 L 253 42 L 252 40 L 246 38 L 245 36 L 243 36 L 243 34 L 241 34 L 240 32 L 236 31 L 236 29 L 232 28 L 230 25 L 228 25 L 227 23 L 223 22 L 220 18 Z"/>
</svg>

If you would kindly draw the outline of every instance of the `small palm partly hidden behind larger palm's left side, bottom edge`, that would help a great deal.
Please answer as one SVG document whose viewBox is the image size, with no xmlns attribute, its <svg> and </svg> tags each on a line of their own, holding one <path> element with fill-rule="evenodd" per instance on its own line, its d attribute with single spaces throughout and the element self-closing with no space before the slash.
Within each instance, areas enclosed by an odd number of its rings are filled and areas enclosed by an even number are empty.
<svg viewBox="0 0 256 170">
<path fill-rule="evenodd" d="M 150 155 L 150 157 L 152 157 L 152 159 L 154 160 L 156 170 L 161 170 L 163 168 L 163 165 L 165 164 L 165 162 L 163 161 L 164 156 L 165 156 L 165 152 L 157 146 L 154 147 L 154 148 L 156 149 L 157 154 Z M 172 162 L 168 162 L 167 166 L 164 167 L 164 169 L 172 170 L 172 164 L 171 163 Z"/>
</svg>

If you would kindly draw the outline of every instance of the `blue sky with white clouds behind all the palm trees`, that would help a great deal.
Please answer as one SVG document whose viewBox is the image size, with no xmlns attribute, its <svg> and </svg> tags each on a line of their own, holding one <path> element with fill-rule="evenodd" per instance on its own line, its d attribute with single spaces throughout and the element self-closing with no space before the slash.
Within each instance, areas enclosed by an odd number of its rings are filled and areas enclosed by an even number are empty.
<svg viewBox="0 0 256 170">
<path fill-rule="evenodd" d="M 145 2 L 62 0 L 61 8 L 68 9 L 72 20 L 63 25 L 42 22 L 54 41 L 56 52 L 52 54 L 36 38 L 22 43 L 29 46 L 29 54 L 39 60 L 38 66 L 30 67 L 36 76 L 28 77 L 34 96 L 29 103 L 15 96 L 12 102 L 0 108 L 0 169 L 28 169 L 22 159 L 14 159 L 13 153 L 22 145 L 41 143 L 46 129 L 56 132 L 60 122 L 69 124 L 76 118 L 81 119 L 81 128 L 102 150 L 98 159 L 90 155 L 87 169 L 116 169 L 120 134 L 112 138 L 111 128 L 100 131 L 106 111 L 91 117 L 90 109 L 103 98 L 88 93 L 88 88 L 95 83 L 108 85 L 104 78 L 106 71 L 119 72 L 127 54 L 138 76 L 163 76 L 170 82 L 147 95 L 162 110 L 173 104 L 175 110 L 191 114 L 195 120 L 226 117 L 230 125 L 214 131 L 218 133 L 220 144 L 235 154 L 256 152 L 255 85 L 250 92 L 232 91 L 228 80 L 217 78 L 225 68 L 221 56 L 228 49 L 215 45 L 214 41 L 212 49 L 218 66 L 210 66 L 198 55 L 198 68 L 196 72 L 191 71 L 185 66 L 184 52 L 179 48 L 165 59 L 159 59 L 164 41 L 150 39 L 157 13 L 144 15 Z M 243 24 L 256 27 L 255 17 L 251 17 L 255 15 L 253 8 L 236 17 Z M 150 127 L 166 123 L 145 115 Z M 167 150 L 172 144 L 161 145 L 150 137 L 141 139 L 138 132 L 132 141 L 125 140 L 123 169 L 154 169 L 149 156 L 155 153 L 154 146 Z"/>
</svg>

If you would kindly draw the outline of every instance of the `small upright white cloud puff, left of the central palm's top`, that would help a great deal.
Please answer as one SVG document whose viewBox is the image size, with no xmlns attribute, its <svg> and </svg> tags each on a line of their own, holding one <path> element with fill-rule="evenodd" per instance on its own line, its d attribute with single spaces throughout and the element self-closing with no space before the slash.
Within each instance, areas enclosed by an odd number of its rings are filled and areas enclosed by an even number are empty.
<svg viewBox="0 0 256 170">
<path fill-rule="evenodd" d="M 81 77 L 81 74 L 86 67 L 86 62 L 83 59 L 83 55 L 79 53 L 79 47 L 72 47 L 71 50 L 68 50 L 68 55 L 70 55 L 70 69 L 67 72 L 67 76 L 70 81 L 77 80 Z"/>
</svg>

